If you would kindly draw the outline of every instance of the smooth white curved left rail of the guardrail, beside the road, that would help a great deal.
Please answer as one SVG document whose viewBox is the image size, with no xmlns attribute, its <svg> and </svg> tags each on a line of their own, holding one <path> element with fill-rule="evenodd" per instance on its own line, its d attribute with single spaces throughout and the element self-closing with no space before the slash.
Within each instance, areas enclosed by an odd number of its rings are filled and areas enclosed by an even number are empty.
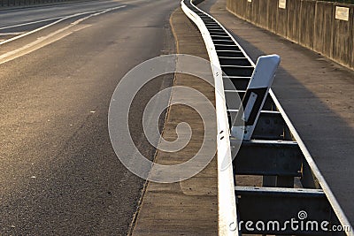
<svg viewBox="0 0 354 236">
<path fill-rule="evenodd" d="M 212 73 L 214 77 L 215 87 L 215 106 L 217 112 L 218 133 L 217 138 L 217 161 L 218 161 L 218 204 L 219 204 L 219 235 L 229 235 L 238 232 L 237 227 L 237 212 L 236 212 L 236 200 L 235 200 L 235 185 L 233 180 L 233 169 L 231 165 L 228 165 L 226 170 L 222 171 L 221 164 L 226 158 L 228 163 L 232 162 L 231 158 L 231 144 L 229 140 L 229 125 L 227 118 L 227 106 L 226 97 L 223 93 L 224 85 L 222 82 L 222 71 L 219 64 L 218 54 L 215 49 L 215 45 L 212 42 L 212 36 L 204 24 L 204 20 L 201 16 L 205 15 L 203 11 L 200 11 L 189 1 L 182 1 L 181 8 L 186 15 L 191 19 L 201 32 L 208 55 L 212 65 Z M 210 19 L 212 19 L 210 17 Z M 221 92 L 220 92 L 221 91 Z M 224 139 L 220 139 L 225 136 Z M 234 231 L 229 230 L 230 226 Z M 235 228 L 235 229 L 234 229 Z M 230 234 L 230 235 L 231 235 Z"/>
</svg>

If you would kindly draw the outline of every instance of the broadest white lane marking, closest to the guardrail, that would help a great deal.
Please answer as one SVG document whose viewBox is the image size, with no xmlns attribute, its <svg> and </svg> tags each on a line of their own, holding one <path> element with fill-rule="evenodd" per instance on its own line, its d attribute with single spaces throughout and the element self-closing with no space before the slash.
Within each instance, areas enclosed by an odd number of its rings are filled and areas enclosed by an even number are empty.
<svg viewBox="0 0 354 236">
<path fill-rule="evenodd" d="M 119 6 L 119 7 L 114 7 L 114 8 L 111 8 L 111 9 L 108 9 L 108 10 L 104 10 L 104 11 L 100 11 L 100 12 L 96 12 L 94 14 L 91 14 L 87 17 L 84 17 L 82 19 L 78 19 L 76 21 L 74 21 L 73 23 L 71 23 L 69 26 L 67 27 L 63 27 L 63 28 L 60 28 L 58 29 L 57 31 L 51 33 L 51 34 L 48 34 L 46 36 L 43 36 L 43 37 L 40 37 L 38 38 L 37 40 L 35 40 L 35 42 L 30 42 L 24 46 L 22 46 L 21 48 L 19 49 L 15 49 L 15 50 L 12 50 L 12 51 L 9 51 L 7 53 L 4 53 L 3 55 L 0 56 L 0 65 L 8 62 L 8 61 L 11 61 L 17 57 L 21 57 L 21 56 L 24 56 L 32 51 L 35 51 L 36 49 L 41 49 L 42 47 L 52 43 L 52 42 L 56 42 L 62 38 L 64 38 L 65 36 L 69 35 L 69 34 L 72 34 L 73 32 L 76 32 L 76 31 L 79 31 L 83 28 L 86 28 L 86 27 L 90 27 L 91 25 L 83 25 L 83 26 L 78 26 L 79 23 L 81 23 L 83 20 L 85 19 L 89 19 L 91 17 L 94 17 L 94 16 L 97 16 L 97 15 L 100 15 L 100 14 L 103 14 L 105 12 L 108 12 L 108 11 L 113 11 L 113 10 L 116 10 L 116 9 L 119 9 L 119 8 L 123 8 L 125 7 L 124 6 Z M 71 27 L 73 27 L 72 30 L 68 31 Z M 21 34 L 23 35 L 23 34 Z"/>
</svg>

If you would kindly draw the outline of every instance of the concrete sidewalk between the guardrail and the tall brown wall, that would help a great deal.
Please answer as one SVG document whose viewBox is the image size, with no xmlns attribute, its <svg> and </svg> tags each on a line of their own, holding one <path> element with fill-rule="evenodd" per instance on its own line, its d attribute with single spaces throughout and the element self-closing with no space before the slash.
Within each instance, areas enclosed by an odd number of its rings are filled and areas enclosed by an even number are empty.
<svg viewBox="0 0 354 236">
<path fill-rule="evenodd" d="M 252 60 L 281 56 L 274 93 L 354 225 L 354 72 L 236 18 L 226 10 L 226 0 L 206 0 L 198 7 L 210 10 Z"/>
</svg>

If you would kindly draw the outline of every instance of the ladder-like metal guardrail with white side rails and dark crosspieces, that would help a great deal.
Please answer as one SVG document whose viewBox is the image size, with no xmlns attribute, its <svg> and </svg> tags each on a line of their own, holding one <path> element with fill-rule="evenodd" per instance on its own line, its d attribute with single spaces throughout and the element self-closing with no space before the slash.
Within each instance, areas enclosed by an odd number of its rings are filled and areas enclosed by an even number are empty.
<svg viewBox="0 0 354 236">
<path fill-rule="evenodd" d="M 243 133 L 241 148 L 232 160 L 234 143 L 239 141 L 233 137 L 234 126 L 229 124 L 227 115 L 237 113 L 239 107 L 227 107 L 226 102 L 232 99 L 233 93 L 243 97 L 242 103 L 248 99 L 255 64 L 211 15 L 196 8 L 190 0 L 181 1 L 181 8 L 203 36 L 215 81 L 219 235 L 354 235 L 347 217 L 272 89 L 258 110 L 258 118 L 251 124 L 253 132 Z M 222 72 L 232 81 L 231 87 Z M 225 161 L 232 162 L 232 166 L 222 169 L 221 163 Z M 241 186 L 235 183 L 236 175 L 262 176 L 262 186 Z M 300 224 L 298 229 L 287 226 L 287 221 L 290 224 L 296 219 Z M 282 227 L 275 227 L 275 221 Z M 253 225 L 247 225 L 248 222 Z M 267 227 L 265 224 L 269 223 L 275 226 Z M 325 227 L 319 225 L 322 223 Z M 345 231 L 326 231 L 334 230 L 333 226 Z"/>
</svg>

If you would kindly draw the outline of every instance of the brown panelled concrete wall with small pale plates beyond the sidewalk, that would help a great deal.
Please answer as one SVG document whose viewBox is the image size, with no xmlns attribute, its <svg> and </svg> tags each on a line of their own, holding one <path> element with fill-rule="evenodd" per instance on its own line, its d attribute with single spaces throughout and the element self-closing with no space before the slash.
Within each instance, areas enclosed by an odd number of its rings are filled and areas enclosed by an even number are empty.
<svg viewBox="0 0 354 236">
<path fill-rule="evenodd" d="M 315 0 L 227 0 L 236 16 L 354 68 L 354 5 Z"/>
</svg>

